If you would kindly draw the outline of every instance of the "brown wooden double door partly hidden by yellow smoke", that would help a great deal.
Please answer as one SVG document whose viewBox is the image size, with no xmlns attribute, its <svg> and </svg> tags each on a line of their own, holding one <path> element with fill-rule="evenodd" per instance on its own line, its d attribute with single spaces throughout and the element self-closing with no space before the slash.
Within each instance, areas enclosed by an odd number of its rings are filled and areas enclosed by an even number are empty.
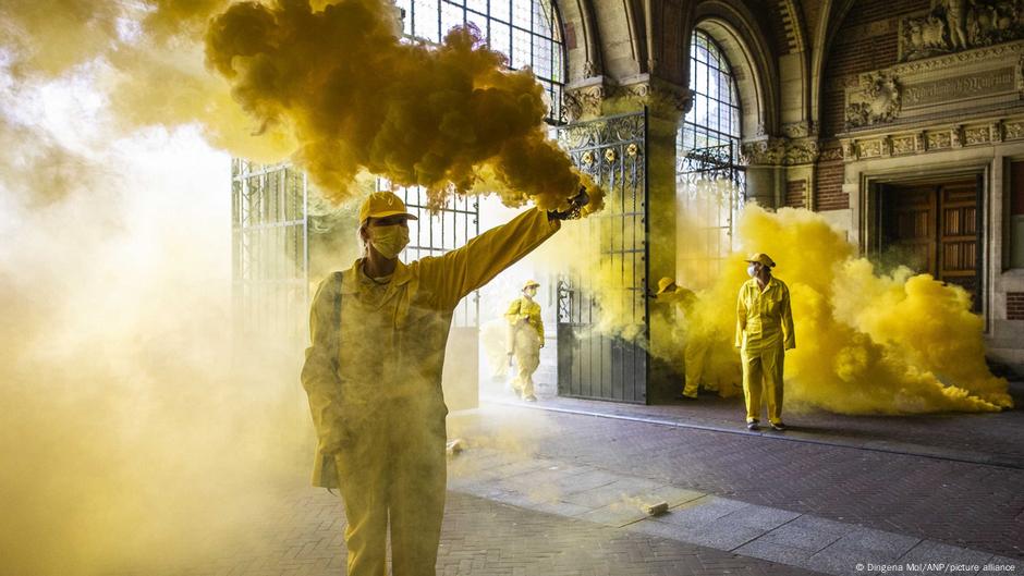
<svg viewBox="0 0 1024 576">
<path fill-rule="evenodd" d="M 971 294 L 982 308 L 982 177 L 887 184 L 881 188 L 882 249 L 916 272 Z"/>
</svg>

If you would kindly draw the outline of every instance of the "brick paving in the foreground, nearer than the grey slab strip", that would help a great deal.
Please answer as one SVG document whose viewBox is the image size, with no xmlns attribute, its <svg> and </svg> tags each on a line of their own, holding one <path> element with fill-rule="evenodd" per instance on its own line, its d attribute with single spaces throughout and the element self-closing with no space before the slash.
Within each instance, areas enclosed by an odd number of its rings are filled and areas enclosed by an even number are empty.
<svg viewBox="0 0 1024 576">
<path fill-rule="evenodd" d="M 304 488 L 282 495 L 237 546 L 203 563 L 146 576 L 340 576 L 344 510 Z M 783 564 L 449 492 L 438 575 L 812 576 Z M 133 572 L 119 573 L 127 576 Z"/>
</svg>

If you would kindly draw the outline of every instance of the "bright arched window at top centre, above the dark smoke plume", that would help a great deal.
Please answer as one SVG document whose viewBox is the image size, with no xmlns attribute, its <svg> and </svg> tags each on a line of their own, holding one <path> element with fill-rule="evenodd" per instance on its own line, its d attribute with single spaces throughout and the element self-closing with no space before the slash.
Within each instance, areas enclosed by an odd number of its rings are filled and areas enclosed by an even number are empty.
<svg viewBox="0 0 1024 576">
<path fill-rule="evenodd" d="M 548 118 L 561 114 L 564 59 L 562 28 L 551 0 L 398 0 L 405 11 L 404 33 L 439 42 L 448 30 L 475 25 L 509 66 L 529 66 L 545 87 Z"/>
</svg>

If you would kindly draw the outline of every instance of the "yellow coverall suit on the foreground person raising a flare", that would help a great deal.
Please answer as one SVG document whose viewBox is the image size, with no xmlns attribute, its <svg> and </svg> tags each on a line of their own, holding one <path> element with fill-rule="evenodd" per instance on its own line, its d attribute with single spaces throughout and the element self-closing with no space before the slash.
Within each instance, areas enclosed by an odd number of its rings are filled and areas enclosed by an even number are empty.
<svg viewBox="0 0 1024 576">
<path fill-rule="evenodd" d="M 537 209 L 440 257 L 370 279 L 358 259 L 314 297 L 302 383 L 318 444 L 314 486 L 340 488 L 350 576 L 434 575 L 444 512 L 444 347 L 459 302 L 560 226 Z"/>
</svg>

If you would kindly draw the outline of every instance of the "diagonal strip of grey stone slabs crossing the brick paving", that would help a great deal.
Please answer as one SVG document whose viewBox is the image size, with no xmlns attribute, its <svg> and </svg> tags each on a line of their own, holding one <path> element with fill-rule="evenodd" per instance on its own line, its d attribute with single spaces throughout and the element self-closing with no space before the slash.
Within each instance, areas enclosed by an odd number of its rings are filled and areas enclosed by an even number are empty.
<svg viewBox="0 0 1024 576">
<path fill-rule="evenodd" d="M 515 454 L 496 457 L 493 452 L 488 448 L 472 449 L 455 458 L 449 466 L 454 489 L 825 574 L 870 574 L 876 572 L 875 566 L 894 574 L 916 574 L 917 568 L 906 566 L 941 562 L 980 567 L 997 560 L 990 552 L 703 494 L 629 474 L 605 470 L 600 478 L 606 483 L 573 486 L 568 480 L 595 477 L 601 470 L 522 453 L 517 457 L 534 466 L 511 466 L 508 461 Z M 496 490 L 489 466 L 497 462 L 503 463 L 503 469 L 525 471 L 498 480 L 500 488 Z M 671 506 L 669 512 L 647 517 L 643 511 L 662 495 Z M 1011 560 L 1001 563 L 1024 568 L 1024 563 Z"/>
</svg>

